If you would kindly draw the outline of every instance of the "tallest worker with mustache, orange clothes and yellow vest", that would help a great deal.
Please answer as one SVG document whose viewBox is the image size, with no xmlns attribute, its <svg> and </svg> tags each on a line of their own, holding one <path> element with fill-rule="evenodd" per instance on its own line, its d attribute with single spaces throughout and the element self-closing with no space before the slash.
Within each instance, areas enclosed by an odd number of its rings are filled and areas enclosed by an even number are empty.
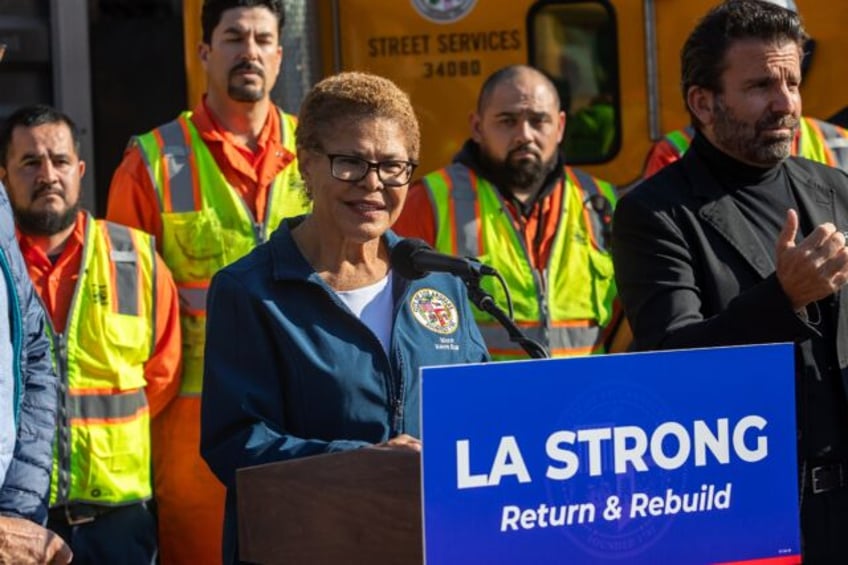
<svg viewBox="0 0 848 565">
<path fill-rule="evenodd" d="M 156 237 L 180 294 L 181 389 L 153 424 L 164 565 L 221 559 L 224 488 L 198 451 L 209 280 L 308 208 L 294 118 L 270 98 L 284 21 L 282 0 L 206 0 L 203 100 L 134 138 L 109 190 L 107 219 Z"/>
</svg>

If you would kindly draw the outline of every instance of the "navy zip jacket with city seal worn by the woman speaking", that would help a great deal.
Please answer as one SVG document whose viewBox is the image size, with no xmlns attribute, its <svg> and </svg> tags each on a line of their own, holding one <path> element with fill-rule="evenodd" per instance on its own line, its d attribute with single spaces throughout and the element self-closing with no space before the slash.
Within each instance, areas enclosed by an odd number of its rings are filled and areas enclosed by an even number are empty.
<svg viewBox="0 0 848 565">
<path fill-rule="evenodd" d="M 225 563 L 236 561 L 236 469 L 421 437 L 419 368 L 488 360 L 465 287 L 446 274 L 392 275 L 386 355 L 301 255 L 296 221 L 209 291 L 200 450 L 227 487 Z"/>
</svg>

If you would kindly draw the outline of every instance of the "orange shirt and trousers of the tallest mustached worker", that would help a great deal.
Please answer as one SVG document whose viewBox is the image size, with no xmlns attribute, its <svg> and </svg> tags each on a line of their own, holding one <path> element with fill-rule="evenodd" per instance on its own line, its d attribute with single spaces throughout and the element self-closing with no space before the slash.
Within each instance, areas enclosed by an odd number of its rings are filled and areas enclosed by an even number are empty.
<svg viewBox="0 0 848 565">
<path fill-rule="evenodd" d="M 204 101 L 191 117 L 221 173 L 258 222 L 265 220 L 271 184 L 295 159 L 283 146 L 279 116 L 272 105 L 256 151 L 220 128 Z M 161 242 L 161 213 L 141 151 L 130 148 L 112 177 L 106 217 Z M 152 431 L 162 563 L 220 563 L 225 490 L 200 458 L 200 398 L 178 396 L 153 422 Z"/>
</svg>

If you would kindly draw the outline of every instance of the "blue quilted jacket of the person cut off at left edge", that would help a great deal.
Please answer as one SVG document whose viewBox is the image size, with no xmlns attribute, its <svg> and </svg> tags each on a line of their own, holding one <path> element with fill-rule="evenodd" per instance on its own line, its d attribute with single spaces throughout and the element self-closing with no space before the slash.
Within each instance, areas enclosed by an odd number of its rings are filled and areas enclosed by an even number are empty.
<svg viewBox="0 0 848 565">
<path fill-rule="evenodd" d="M 0 514 L 44 523 L 56 429 L 57 379 L 45 333 L 44 311 L 15 239 L 9 200 L 0 184 L 0 271 L 8 291 L 13 365 L 12 398 L 0 410 L 15 415 L 14 454 L 0 486 Z"/>
</svg>

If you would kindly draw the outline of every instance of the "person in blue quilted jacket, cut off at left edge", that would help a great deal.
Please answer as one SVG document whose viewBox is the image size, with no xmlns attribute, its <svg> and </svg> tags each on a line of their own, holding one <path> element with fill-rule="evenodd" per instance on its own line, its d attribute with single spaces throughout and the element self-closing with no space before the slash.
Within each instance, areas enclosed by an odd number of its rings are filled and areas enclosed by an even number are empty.
<svg viewBox="0 0 848 565">
<path fill-rule="evenodd" d="M 5 52 L 0 43 L 0 61 Z M 40 525 L 50 486 L 56 375 L 2 182 L 0 321 L 0 562 L 61 565 L 70 562 L 70 548 Z"/>
</svg>

